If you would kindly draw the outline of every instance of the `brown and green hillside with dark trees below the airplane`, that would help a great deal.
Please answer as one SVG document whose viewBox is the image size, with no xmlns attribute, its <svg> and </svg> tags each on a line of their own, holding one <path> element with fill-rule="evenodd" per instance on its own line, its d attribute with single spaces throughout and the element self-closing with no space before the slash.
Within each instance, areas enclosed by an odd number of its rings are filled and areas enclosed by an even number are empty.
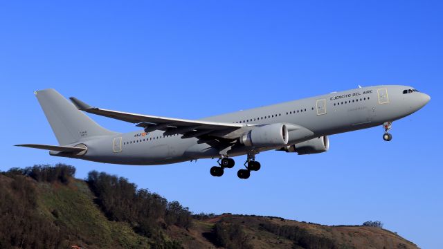
<svg viewBox="0 0 443 249">
<path fill-rule="evenodd" d="M 66 165 L 0 174 L 0 248 L 417 248 L 369 226 L 192 215 L 124 178 Z"/>
</svg>

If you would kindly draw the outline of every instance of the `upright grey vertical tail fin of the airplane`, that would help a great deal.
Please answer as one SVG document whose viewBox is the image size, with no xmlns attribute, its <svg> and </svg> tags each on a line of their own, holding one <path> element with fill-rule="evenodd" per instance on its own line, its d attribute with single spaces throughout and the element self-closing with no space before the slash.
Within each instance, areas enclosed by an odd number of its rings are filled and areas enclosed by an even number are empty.
<svg viewBox="0 0 443 249">
<path fill-rule="evenodd" d="M 116 134 L 100 127 L 54 89 L 36 91 L 35 95 L 60 145 L 69 145 L 91 136 Z"/>
</svg>

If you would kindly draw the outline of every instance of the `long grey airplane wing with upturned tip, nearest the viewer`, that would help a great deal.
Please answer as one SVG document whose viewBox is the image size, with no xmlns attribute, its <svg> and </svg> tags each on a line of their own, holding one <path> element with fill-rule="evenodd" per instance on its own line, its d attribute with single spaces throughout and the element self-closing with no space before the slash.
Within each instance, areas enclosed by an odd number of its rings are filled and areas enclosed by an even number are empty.
<svg viewBox="0 0 443 249">
<path fill-rule="evenodd" d="M 186 120 L 180 118 L 165 118 L 159 116 L 149 116 L 137 113 L 127 113 L 123 111 L 112 111 L 91 107 L 89 104 L 70 98 L 75 107 L 81 111 L 93 113 L 108 118 L 115 118 L 125 122 L 132 122 L 138 127 L 143 127 L 146 132 L 161 130 L 165 131 L 165 136 L 172 134 L 183 134 L 184 138 L 217 136 L 219 138 L 237 138 L 239 133 L 248 130 L 246 127 L 253 127 L 251 124 L 233 124 L 227 122 L 211 122 L 202 120 Z M 249 129 L 251 129 L 249 128 Z"/>
</svg>

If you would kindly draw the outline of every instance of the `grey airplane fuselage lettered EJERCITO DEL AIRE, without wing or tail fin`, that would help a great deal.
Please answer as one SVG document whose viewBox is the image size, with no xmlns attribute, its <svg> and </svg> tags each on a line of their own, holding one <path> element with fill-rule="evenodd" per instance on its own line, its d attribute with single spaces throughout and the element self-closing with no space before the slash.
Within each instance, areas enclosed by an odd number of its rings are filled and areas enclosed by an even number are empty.
<svg viewBox="0 0 443 249">
<path fill-rule="evenodd" d="M 201 120 L 254 126 L 297 124 L 308 129 L 309 132 L 301 139 L 295 136 L 299 130 L 289 131 L 288 145 L 294 145 L 321 136 L 376 127 L 404 118 L 424 107 L 430 99 L 428 95 L 415 90 L 409 93 L 412 89 L 410 86 L 397 85 L 368 86 Z M 404 93 L 405 90 L 407 93 Z M 165 136 L 164 131 L 116 133 L 115 136 L 96 136 L 79 142 L 87 146 L 87 153 L 71 157 L 101 163 L 163 165 L 220 156 L 219 149 L 212 142 L 183 138 L 181 134 Z M 226 152 L 226 156 L 271 149 L 279 147 L 235 145 Z M 60 156 L 53 152 L 51 154 Z"/>
</svg>

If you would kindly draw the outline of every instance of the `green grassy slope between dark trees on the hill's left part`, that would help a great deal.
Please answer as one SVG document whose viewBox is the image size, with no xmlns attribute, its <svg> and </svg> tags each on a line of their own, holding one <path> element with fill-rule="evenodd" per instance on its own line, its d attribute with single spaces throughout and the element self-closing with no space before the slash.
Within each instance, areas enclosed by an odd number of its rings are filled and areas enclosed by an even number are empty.
<svg viewBox="0 0 443 249">
<path fill-rule="evenodd" d="M 66 239 L 87 248 L 150 248 L 149 239 L 128 223 L 109 221 L 93 203 L 86 183 L 41 184 L 39 209 L 66 231 Z M 55 214 L 55 215 L 54 215 Z M 74 235 L 75 234 L 75 235 Z"/>
</svg>

